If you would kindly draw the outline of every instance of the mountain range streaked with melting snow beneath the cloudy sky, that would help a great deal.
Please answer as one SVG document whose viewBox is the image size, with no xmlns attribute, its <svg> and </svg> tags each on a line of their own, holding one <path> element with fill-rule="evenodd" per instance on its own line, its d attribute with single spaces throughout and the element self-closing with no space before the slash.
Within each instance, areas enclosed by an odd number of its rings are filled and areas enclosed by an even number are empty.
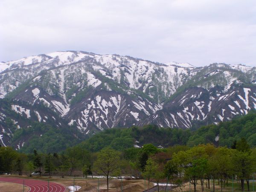
<svg viewBox="0 0 256 192">
<path fill-rule="evenodd" d="M 255 77 L 255 68 L 243 65 L 195 67 L 65 51 L 1 62 L 0 98 L 16 102 L 9 108 L 26 119 L 55 121 L 56 127 L 70 126 L 85 135 L 150 123 L 190 128 L 255 109 Z M 41 105 L 51 112 L 40 110 Z M 2 108 L 0 143 L 6 145 L 12 137 L 12 131 L 4 134 L 7 116 Z M 16 128 L 25 126 L 13 121 Z"/>
</svg>

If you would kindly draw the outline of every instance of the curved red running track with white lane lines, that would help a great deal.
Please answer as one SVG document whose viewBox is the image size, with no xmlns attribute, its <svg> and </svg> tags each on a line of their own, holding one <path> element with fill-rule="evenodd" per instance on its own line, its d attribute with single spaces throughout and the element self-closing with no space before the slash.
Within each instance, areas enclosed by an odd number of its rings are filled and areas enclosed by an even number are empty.
<svg viewBox="0 0 256 192">
<path fill-rule="evenodd" d="M 23 184 L 29 187 L 29 192 L 64 192 L 66 188 L 60 184 L 49 182 L 48 191 L 48 181 L 34 180 L 34 179 L 20 179 L 12 177 L 0 177 L 0 181 L 9 183 Z"/>
</svg>

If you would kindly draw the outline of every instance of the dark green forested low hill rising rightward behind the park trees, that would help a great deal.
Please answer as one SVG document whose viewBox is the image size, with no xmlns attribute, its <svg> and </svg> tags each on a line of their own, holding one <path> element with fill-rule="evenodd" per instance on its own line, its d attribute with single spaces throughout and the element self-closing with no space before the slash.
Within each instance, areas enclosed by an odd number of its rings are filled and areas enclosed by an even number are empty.
<svg viewBox="0 0 256 192">
<path fill-rule="evenodd" d="M 192 147 L 198 144 L 212 143 L 216 146 L 231 147 L 234 142 L 245 138 L 250 147 L 256 147 L 256 112 L 251 111 L 245 116 L 239 116 L 229 122 L 218 125 L 207 125 L 191 131 L 178 128 L 158 128 L 156 125 L 146 125 L 142 128 L 113 128 L 95 134 L 79 146 L 90 151 L 99 151 L 111 147 L 122 151 L 132 146 L 142 147 L 152 143 L 166 148 L 174 145 Z"/>
</svg>

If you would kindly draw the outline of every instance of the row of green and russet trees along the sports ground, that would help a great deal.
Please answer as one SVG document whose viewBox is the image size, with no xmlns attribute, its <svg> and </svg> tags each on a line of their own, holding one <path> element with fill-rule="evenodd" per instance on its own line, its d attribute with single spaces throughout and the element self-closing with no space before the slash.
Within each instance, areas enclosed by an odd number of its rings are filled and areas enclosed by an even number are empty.
<svg viewBox="0 0 256 192">
<path fill-rule="evenodd" d="M 67 148 L 61 153 L 42 154 L 36 150 L 32 154 L 23 154 L 11 147 L 0 147 L 0 172 L 31 175 L 32 172 L 52 175 L 83 176 L 104 175 L 107 187 L 110 176 L 122 175 L 145 178 L 148 187 L 151 181 L 175 183 L 189 182 L 194 191 L 201 186 L 215 191 L 218 180 L 221 191 L 228 180 L 236 178 L 241 191 L 250 191 L 249 180 L 256 171 L 256 148 L 250 148 L 242 138 L 234 142 L 231 148 L 201 144 L 194 147 L 176 145 L 157 148 L 145 144 L 143 148 L 127 148 L 117 151 L 103 148 L 91 152 L 80 146 Z M 210 180 L 213 185 L 210 186 Z"/>
</svg>

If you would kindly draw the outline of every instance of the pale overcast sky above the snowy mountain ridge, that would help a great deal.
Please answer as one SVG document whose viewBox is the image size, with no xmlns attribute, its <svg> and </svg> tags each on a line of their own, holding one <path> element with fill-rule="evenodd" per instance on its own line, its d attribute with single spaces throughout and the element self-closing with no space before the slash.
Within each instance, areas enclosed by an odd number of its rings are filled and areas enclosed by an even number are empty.
<svg viewBox="0 0 256 192">
<path fill-rule="evenodd" d="M 0 61 L 59 50 L 256 66 L 256 0 L 0 1 Z"/>
</svg>

